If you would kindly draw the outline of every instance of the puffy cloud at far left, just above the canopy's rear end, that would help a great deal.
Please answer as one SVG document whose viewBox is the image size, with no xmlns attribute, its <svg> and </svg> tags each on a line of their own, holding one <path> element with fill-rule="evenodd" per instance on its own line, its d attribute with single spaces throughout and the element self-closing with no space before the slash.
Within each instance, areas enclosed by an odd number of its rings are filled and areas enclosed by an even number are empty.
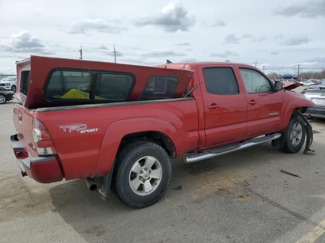
<svg viewBox="0 0 325 243">
<path fill-rule="evenodd" d="M 54 54 L 54 52 L 45 46 L 38 37 L 32 36 L 28 31 L 20 31 L 10 37 L 10 41 L 4 44 L 6 52 L 43 55 Z"/>
</svg>

